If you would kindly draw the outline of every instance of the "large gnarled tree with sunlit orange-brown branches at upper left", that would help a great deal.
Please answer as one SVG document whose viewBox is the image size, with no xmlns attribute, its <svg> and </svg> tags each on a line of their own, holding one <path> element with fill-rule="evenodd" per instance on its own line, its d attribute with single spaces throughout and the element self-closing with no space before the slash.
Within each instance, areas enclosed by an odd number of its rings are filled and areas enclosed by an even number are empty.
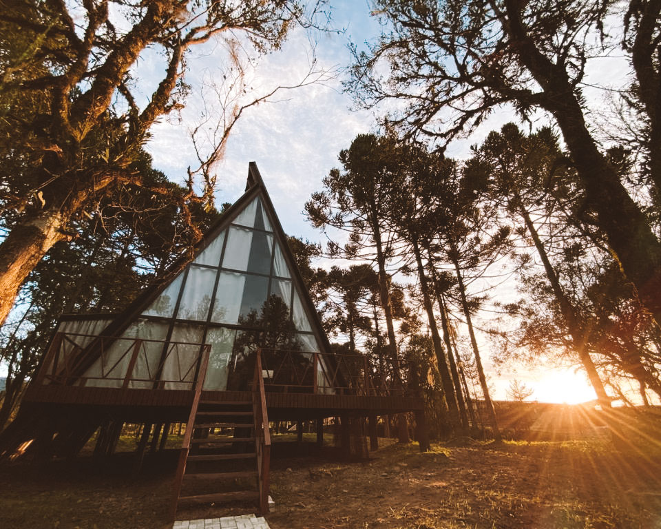
<svg viewBox="0 0 661 529">
<path fill-rule="evenodd" d="M 185 103 L 189 50 L 240 39 L 268 52 L 303 17 L 296 0 L 2 3 L 0 323 L 36 263 L 76 235 L 72 222 L 94 216 L 118 189 L 143 185 L 136 159 L 150 127 Z M 145 101 L 133 69 L 147 52 L 164 63 Z M 236 118 L 242 109 L 234 110 Z M 213 177 L 202 165 L 210 198 Z"/>
</svg>

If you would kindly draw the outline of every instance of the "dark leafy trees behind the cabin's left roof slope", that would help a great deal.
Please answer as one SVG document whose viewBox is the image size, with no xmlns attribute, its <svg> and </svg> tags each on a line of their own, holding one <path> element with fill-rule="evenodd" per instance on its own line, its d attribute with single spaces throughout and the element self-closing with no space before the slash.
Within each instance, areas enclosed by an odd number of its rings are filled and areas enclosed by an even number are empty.
<svg viewBox="0 0 661 529">
<path fill-rule="evenodd" d="M 167 187 L 172 196 L 187 189 L 168 182 L 141 156 L 145 183 Z M 104 201 L 95 222 L 76 225 L 81 234 L 58 242 L 28 275 L 12 316 L 0 327 L 0 362 L 7 369 L 0 405 L 0 429 L 16 407 L 28 380 L 48 346 L 62 313 L 116 313 L 147 284 L 165 279 L 169 264 L 187 253 L 198 231 L 218 218 L 191 203 L 188 214 L 171 200 L 145 189 L 124 189 L 125 207 Z"/>
</svg>

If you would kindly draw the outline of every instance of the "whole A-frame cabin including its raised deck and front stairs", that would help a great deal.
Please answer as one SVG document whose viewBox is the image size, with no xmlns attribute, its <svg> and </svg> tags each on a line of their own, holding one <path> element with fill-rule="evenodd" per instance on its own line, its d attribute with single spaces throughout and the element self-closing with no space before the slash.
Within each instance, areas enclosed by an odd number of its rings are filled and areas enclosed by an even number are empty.
<svg viewBox="0 0 661 529">
<path fill-rule="evenodd" d="M 123 424 L 138 423 L 145 424 L 141 461 L 152 426 L 156 444 L 167 425 L 186 422 L 193 428 L 182 446 L 174 510 L 193 468 L 198 480 L 254 475 L 258 490 L 191 501 L 254 495 L 264 512 L 269 421 L 317 419 L 319 431 L 325 417 L 370 417 L 375 426 L 377 415 L 422 408 L 417 391 L 388 377 L 383 362 L 379 371 L 367 357 L 330 351 L 251 163 L 244 195 L 207 231 L 192 260 L 174 265 L 171 280 L 116 317 L 61 319 L 17 419 L 0 436 L 0 456 L 28 446 L 43 457 L 75 455 L 96 431 L 96 452 L 112 453 Z M 231 437 L 211 441 L 209 428 Z M 236 459 L 257 468 L 212 468 Z"/>
</svg>

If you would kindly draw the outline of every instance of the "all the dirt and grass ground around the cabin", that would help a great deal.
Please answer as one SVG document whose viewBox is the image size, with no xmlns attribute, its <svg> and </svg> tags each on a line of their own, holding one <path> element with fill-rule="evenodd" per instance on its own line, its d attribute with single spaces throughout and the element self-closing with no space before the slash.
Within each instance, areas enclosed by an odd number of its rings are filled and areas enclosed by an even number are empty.
<svg viewBox="0 0 661 529">
<path fill-rule="evenodd" d="M 383 445 L 384 440 L 381 439 Z M 369 461 L 275 457 L 273 529 L 661 528 L 661 452 L 605 440 L 464 439 L 419 453 L 390 444 Z M 296 450 L 302 453 L 303 450 Z M 0 467 L 0 528 L 165 529 L 176 452 L 130 477 L 132 454 Z M 198 508 L 179 518 L 253 509 Z"/>
</svg>

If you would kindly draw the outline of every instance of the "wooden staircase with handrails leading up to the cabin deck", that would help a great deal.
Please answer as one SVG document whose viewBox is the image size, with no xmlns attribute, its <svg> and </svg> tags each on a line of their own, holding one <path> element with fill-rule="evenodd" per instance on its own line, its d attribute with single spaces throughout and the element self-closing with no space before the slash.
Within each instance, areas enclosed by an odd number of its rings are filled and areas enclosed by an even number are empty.
<svg viewBox="0 0 661 529">
<path fill-rule="evenodd" d="M 244 402 L 200 400 L 208 358 L 203 360 L 179 458 L 172 519 L 180 504 L 255 501 L 260 514 L 268 512 L 271 439 L 260 352 L 256 358 L 253 400 Z M 218 428 L 222 437 L 209 436 Z"/>
</svg>

